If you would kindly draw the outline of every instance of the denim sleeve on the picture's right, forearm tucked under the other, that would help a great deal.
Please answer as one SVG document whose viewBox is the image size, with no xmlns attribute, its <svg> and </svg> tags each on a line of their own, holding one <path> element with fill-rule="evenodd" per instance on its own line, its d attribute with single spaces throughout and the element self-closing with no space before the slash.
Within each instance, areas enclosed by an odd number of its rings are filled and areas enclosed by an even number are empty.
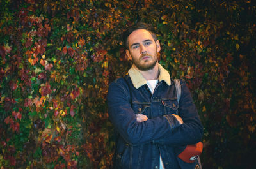
<svg viewBox="0 0 256 169">
<path fill-rule="evenodd" d="M 172 133 L 168 133 L 168 135 L 164 135 L 163 138 L 155 140 L 155 143 L 180 146 L 200 142 L 203 135 L 203 126 L 200 122 L 195 104 L 193 103 L 191 93 L 184 81 L 181 85 L 181 97 L 178 110 L 179 116 L 184 123 Z"/>
</svg>

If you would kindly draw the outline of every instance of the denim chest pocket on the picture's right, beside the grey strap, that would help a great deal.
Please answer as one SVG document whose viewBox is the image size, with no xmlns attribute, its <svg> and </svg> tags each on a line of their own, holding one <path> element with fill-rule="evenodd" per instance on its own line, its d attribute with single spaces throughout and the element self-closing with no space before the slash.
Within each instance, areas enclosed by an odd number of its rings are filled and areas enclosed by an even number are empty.
<svg viewBox="0 0 256 169">
<path fill-rule="evenodd" d="M 178 114 L 179 103 L 177 99 L 162 99 L 164 114 Z"/>
</svg>

